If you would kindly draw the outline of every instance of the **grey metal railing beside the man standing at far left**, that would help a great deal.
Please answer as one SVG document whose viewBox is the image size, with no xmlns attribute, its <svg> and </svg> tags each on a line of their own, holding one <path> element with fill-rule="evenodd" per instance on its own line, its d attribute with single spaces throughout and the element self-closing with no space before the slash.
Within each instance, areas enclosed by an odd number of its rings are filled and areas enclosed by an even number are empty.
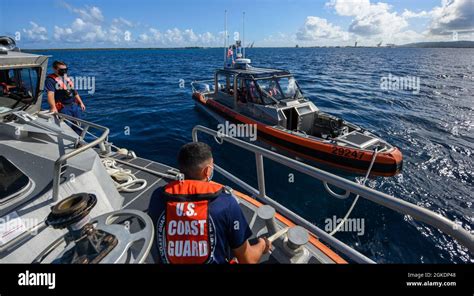
<svg viewBox="0 0 474 296">
<path fill-rule="evenodd" d="M 61 180 L 61 174 L 64 165 L 66 164 L 67 160 L 90 149 L 95 146 L 99 146 L 101 150 L 106 149 L 105 143 L 107 143 L 107 138 L 109 135 L 109 129 L 105 126 L 101 126 L 95 123 L 91 123 L 82 119 L 78 119 L 69 115 L 65 115 L 62 113 L 57 113 L 53 116 L 56 116 L 59 121 L 67 122 L 75 127 L 80 128 L 81 134 L 76 140 L 76 147 L 75 149 L 69 151 L 61 155 L 55 162 L 54 162 L 54 171 L 53 171 L 53 202 L 57 202 L 59 199 L 59 183 Z M 91 134 L 89 132 L 90 129 L 95 129 L 101 132 L 100 136 L 94 137 L 95 139 L 89 143 L 85 143 L 84 139 L 87 134 Z"/>
</svg>

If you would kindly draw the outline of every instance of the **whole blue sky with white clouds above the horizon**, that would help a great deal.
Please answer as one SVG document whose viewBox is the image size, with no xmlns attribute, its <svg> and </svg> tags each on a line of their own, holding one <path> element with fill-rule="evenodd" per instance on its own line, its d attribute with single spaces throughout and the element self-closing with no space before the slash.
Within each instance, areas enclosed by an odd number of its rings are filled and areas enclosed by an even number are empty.
<svg viewBox="0 0 474 296">
<path fill-rule="evenodd" d="M 23 48 L 403 44 L 473 40 L 473 0 L 0 0 L 0 34 Z"/>
</svg>

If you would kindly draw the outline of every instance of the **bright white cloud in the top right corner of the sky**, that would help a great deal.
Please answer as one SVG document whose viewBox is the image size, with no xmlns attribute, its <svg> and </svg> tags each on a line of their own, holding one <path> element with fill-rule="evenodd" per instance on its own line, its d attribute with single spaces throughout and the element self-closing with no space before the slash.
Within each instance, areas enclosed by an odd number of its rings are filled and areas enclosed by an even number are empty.
<svg viewBox="0 0 474 296">
<path fill-rule="evenodd" d="M 453 31 L 468 33 L 474 31 L 474 1 L 442 0 L 441 6 L 433 8 L 429 32 L 432 35 L 446 35 Z"/>
</svg>

